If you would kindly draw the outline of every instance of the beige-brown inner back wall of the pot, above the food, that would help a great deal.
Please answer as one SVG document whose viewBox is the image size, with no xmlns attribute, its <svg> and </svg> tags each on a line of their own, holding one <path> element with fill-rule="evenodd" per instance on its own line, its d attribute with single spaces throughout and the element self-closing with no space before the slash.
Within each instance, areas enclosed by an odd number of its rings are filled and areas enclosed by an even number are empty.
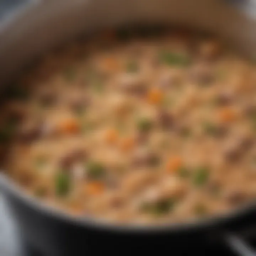
<svg viewBox="0 0 256 256">
<path fill-rule="evenodd" d="M 217 32 L 256 57 L 256 22 L 220 0 L 58 0 L 20 8 L 0 26 L 0 84 L 52 47 L 97 28 L 137 23 Z"/>
</svg>

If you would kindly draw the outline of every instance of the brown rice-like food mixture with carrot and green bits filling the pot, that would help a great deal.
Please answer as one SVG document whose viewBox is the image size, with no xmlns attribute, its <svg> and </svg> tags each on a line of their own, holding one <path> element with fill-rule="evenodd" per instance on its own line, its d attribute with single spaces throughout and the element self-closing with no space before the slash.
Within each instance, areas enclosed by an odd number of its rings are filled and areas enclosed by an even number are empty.
<svg viewBox="0 0 256 256">
<path fill-rule="evenodd" d="M 255 65 L 217 39 L 98 33 L 46 56 L 4 99 L 5 169 L 71 214 L 187 222 L 256 196 Z"/>
</svg>

